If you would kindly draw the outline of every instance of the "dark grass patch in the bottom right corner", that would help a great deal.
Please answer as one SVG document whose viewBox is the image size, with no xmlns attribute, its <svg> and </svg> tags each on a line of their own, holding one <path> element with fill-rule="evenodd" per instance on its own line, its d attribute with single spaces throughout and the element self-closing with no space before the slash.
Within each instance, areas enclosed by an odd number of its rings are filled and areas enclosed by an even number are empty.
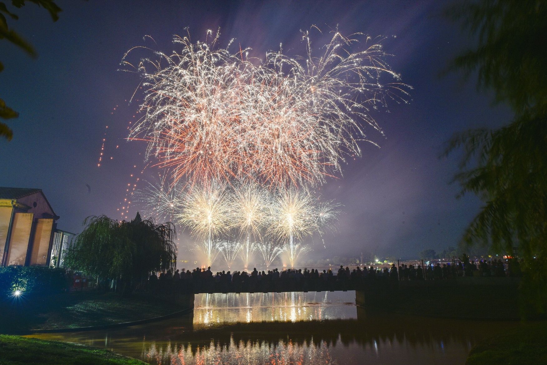
<svg viewBox="0 0 547 365">
<path fill-rule="evenodd" d="M 476 344 L 466 364 L 547 364 L 547 323 L 523 323 Z"/>
</svg>

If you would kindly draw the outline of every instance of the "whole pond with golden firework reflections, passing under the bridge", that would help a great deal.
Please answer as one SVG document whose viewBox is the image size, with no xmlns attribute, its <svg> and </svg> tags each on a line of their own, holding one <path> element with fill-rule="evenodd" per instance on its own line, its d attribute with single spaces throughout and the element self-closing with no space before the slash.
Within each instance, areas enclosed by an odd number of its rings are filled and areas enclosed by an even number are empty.
<svg viewBox="0 0 547 365">
<path fill-rule="evenodd" d="M 115 330 L 33 335 L 152 364 L 463 364 L 513 322 L 370 313 L 355 292 L 196 295 L 193 314 Z"/>
</svg>

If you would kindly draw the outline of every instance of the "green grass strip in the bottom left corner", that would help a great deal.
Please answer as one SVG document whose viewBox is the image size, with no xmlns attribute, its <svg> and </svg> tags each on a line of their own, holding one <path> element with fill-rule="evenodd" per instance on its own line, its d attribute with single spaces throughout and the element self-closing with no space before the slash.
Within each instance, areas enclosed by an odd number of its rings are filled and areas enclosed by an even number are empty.
<svg viewBox="0 0 547 365">
<path fill-rule="evenodd" d="M 0 365 L 144 365 L 115 352 L 59 341 L 0 335 Z"/>
</svg>

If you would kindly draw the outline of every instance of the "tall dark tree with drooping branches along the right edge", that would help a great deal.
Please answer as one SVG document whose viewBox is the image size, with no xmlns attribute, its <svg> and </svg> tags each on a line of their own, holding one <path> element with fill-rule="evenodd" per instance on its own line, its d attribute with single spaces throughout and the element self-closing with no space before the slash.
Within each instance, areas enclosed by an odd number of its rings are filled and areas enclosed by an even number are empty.
<svg viewBox="0 0 547 365">
<path fill-rule="evenodd" d="M 451 69 L 478 72 L 478 87 L 514 110 L 497 129 L 456 134 L 445 155 L 463 149 L 455 180 L 460 195 L 474 193 L 484 206 L 462 242 L 495 252 L 518 247 L 529 283 L 525 291 L 539 311 L 547 309 L 547 2 L 466 1 L 447 10 L 476 38 Z"/>
</svg>

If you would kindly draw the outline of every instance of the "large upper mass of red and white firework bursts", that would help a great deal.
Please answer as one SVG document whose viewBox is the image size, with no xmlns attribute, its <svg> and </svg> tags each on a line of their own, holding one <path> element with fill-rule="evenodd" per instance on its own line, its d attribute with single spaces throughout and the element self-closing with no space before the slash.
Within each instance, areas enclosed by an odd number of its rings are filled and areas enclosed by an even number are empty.
<svg viewBox="0 0 547 365">
<path fill-rule="evenodd" d="M 176 37 L 181 52 L 157 52 L 157 61 L 135 68 L 146 91 L 130 138 L 145 140 L 147 156 L 170 168 L 173 181 L 321 184 L 360 155 L 364 126 L 381 131 L 370 110 L 407 95 L 370 38 L 351 52 L 357 40 L 335 32 L 316 57 L 305 32 L 306 57 L 280 50 L 250 60 L 246 50 L 217 48 L 218 33 L 208 37 Z"/>
</svg>

